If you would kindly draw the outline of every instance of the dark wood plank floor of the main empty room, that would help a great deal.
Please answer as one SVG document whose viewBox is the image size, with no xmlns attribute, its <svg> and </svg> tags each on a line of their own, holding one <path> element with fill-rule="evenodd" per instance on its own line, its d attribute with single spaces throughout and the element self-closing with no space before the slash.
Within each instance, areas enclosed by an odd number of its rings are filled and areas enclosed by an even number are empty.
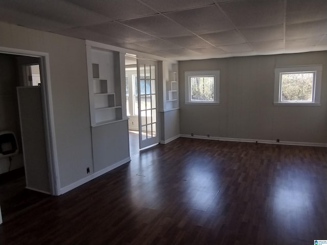
<svg viewBox="0 0 327 245">
<path fill-rule="evenodd" d="M 313 244 L 327 149 L 179 138 L 0 226 L 0 244 Z"/>
</svg>

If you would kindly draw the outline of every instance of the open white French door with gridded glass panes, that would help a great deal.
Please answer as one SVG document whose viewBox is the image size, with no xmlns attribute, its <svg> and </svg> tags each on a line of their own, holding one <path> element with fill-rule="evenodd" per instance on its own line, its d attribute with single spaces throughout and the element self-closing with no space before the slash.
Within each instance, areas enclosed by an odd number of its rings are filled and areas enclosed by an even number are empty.
<svg viewBox="0 0 327 245">
<path fill-rule="evenodd" d="M 137 104 L 139 149 L 159 143 L 158 63 L 137 59 Z"/>
</svg>

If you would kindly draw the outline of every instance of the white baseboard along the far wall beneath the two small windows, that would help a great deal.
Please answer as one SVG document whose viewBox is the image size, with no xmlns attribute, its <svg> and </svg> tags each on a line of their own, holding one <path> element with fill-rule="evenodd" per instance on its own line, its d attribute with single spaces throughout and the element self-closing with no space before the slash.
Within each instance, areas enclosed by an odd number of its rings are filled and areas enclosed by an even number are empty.
<svg viewBox="0 0 327 245">
<path fill-rule="evenodd" d="M 191 136 L 189 134 L 181 134 L 183 138 L 195 138 L 195 139 L 210 139 L 210 140 L 221 140 L 221 141 L 236 141 L 236 142 L 250 142 L 250 143 L 263 143 L 263 144 L 285 144 L 285 145 L 301 145 L 301 146 L 319 146 L 327 147 L 327 143 L 311 143 L 311 142 L 297 142 L 297 141 L 279 141 L 266 140 L 266 139 L 240 139 L 240 138 L 225 138 L 225 137 L 207 137 L 202 135 Z"/>
</svg>

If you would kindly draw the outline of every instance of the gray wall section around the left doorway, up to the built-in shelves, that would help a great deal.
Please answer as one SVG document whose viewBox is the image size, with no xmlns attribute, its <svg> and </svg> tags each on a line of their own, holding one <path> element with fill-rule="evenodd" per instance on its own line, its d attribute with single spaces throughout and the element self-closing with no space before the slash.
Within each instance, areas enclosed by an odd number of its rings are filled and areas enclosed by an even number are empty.
<svg viewBox="0 0 327 245">
<path fill-rule="evenodd" d="M 61 188 L 92 163 L 85 41 L 0 22 L 0 46 L 49 53 Z"/>
</svg>

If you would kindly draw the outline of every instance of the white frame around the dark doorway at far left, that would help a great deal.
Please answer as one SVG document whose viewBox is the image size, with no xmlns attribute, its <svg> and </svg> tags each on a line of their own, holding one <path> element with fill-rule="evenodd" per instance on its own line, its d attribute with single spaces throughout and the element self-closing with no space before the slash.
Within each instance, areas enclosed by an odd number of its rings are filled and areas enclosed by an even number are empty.
<svg viewBox="0 0 327 245">
<path fill-rule="evenodd" d="M 41 97 L 44 119 L 46 155 L 48 158 L 49 168 L 50 192 L 52 195 L 60 195 L 60 178 L 57 157 L 57 144 L 55 137 L 49 54 L 44 52 L 20 50 L 17 48 L 9 48 L 3 46 L 0 46 L 0 53 L 40 58 L 40 77 L 42 81 Z"/>
</svg>

